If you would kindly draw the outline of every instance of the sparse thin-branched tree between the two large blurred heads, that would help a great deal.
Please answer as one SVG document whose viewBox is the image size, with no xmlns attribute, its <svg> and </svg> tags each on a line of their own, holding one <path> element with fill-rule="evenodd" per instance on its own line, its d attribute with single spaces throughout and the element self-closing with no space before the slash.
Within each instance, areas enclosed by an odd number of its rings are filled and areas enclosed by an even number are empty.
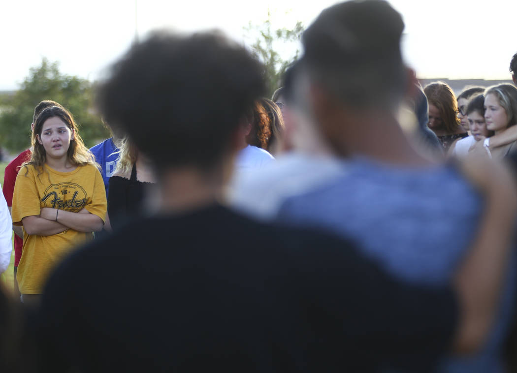
<svg viewBox="0 0 517 373">
<path fill-rule="evenodd" d="M 267 86 L 267 96 L 281 86 L 282 77 L 300 52 L 299 41 L 303 25 L 296 22 L 293 28 L 274 29 L 271 25 L 271 13 L 268 9 L 267 20 L 257 25 L 251 22 L 245 27 L 246 38 L 254 39 L 251 44 L 253 55 L 264 65 L 264 77 Z"/>
</svg>

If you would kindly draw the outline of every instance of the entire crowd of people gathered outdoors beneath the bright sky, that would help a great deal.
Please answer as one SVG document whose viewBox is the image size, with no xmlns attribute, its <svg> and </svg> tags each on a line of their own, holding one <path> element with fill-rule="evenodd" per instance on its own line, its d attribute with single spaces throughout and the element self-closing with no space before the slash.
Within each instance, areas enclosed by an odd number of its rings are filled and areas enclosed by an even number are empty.
<svg viewBox="0 0 517 373">
<path fill-rule="evenodd" d="M 517 88 L 422 88 L 403 29 L 323 10 L 271 100 L 236 42 L 155 32 L 91 149 L 42 98 L 0 196 L 0 371 L 517 371 Z"/>
</svg>

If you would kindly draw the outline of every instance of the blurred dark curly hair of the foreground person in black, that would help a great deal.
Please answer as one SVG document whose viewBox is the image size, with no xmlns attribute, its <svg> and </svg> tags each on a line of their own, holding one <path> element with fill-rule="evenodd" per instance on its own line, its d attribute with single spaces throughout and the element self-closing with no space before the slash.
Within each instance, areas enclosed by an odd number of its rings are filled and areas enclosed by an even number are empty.
<svg viewBox="0 0 517 373">
<path fill-rule="evenodd" d="M 113 65 L 97 101 L 158 170 L 210 168 L 263 91 L 260 63 L 222 34 L 158 32 Z"/>
</svg>

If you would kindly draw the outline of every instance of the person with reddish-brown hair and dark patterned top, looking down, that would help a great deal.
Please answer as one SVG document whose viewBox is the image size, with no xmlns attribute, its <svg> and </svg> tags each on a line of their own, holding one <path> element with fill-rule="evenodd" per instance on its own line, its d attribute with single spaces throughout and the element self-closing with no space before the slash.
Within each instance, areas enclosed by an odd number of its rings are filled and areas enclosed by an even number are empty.
<svg viewBox="0 0 517 373">
<path fill-rule="evenodd" d="M 438 136 L 447 152 L 454 141 L 468 136 L 467 131 L 460 126 L 454 92 L 441 82 L 428 84 L 423 91 L 429 102 L 428 127 Z"/>
</svg>

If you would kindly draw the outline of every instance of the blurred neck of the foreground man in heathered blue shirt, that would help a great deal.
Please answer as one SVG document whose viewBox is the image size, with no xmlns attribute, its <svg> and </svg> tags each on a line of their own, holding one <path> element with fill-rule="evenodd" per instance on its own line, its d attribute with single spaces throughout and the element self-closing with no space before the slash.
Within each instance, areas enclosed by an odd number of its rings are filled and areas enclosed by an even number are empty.
<svg viewBox="0 0 517 373">
<path fill-rule="evenodd" d="M 341 116 L 343 155 L 358 154 L 395 165 L 426 166 L 433 161 L 421 156 L 409 143 L 396 116 L 388 111 L 347 113 Z"/>
</svg>

